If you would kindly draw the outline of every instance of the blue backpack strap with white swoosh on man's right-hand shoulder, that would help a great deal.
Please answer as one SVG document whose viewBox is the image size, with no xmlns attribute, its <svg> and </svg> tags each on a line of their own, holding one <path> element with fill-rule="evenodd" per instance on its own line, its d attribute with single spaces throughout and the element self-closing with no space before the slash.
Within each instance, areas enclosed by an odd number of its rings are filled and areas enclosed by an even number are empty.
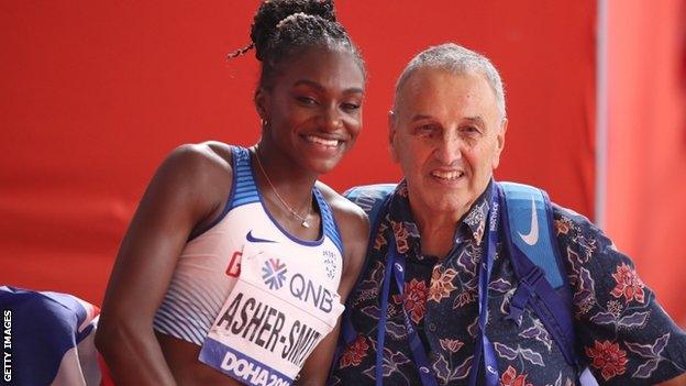
<svg viewBox="0 0 686 386">
<path fill-rule="evenodd" d="M 504 241 L 519 278 L 506 319 L 519 322 L 529 305 L 562 351 L 565 361 L 578 366 L 572 293 L 553 233 L 551 201 L 545 191 L 528 185 L 498 183 L 498 187 L 505 197 Z"/>
</svg>

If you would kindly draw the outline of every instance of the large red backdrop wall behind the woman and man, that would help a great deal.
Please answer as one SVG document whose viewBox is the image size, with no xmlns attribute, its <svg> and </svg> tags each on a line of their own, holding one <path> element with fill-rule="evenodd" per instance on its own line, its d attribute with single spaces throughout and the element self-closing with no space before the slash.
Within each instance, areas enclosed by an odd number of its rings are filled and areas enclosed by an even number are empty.
<svg viewBox="0 0 686 386">
<path fill-rule="evenodd" d="M 178 144 L 258 139 L 248 42 L 257 1 L 0 3 L 0 283 L 100 304 L 143 189 Z M 596 5 L 339 1 L 368 65 L 365 126 L 323 180 L 389 181 L 395 79 L 428 45 L 489 56 L 510 118 L 500 179 L 539 185 L 593 217 Z M 652 284 L 652 283 L 651 283 Z"/>
</svg>

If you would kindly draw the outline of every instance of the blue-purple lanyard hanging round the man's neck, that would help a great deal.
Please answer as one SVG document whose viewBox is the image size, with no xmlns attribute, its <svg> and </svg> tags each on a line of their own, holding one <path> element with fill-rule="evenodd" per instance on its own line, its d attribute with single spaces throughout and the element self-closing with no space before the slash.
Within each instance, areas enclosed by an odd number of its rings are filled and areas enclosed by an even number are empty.
<svg viewBox="0 0 686 386">
<path fill-rule="evenodd" d="M 472 364 L 472 371 L 469 373 L 469 386 L 476 386 L 478 382 L 478 370 L 480 367 L 480 361 L 485 362 L 486 370 L 486 385 L 495 386 L 498 384 L 498 367 L 496 362 L 495 350 L 488 337 L 484 333 L 486 330 L 486 322 L 488 320 L 488 283 L 490 278 L 490 272 L 493 271 L 493 261 L 496 254 L 496 242 L 498 240 L 498 220 L 500 218 L 498 211 L 500 209 L 501 192 L 499 187 L 494 183 L 494 194 L 490 199 L 490 212 L 488 217 L 488 230 L 487 230 L 487 244 L 484 251 L 485 261 L 480 264 L 479 269 L 479 333 L 477 337 L 477 344 L 474 353 L 474 362 Z M 392 272 L 398 287 L 398 293 L 405 298 L 405 263 L 406 256 L 397 252 L 396 239 L 391 235 L 390 243 L 388 245 L 388 261 L 386 263 L 386 269 L 384 273 L 384 283 L 381 286 L 381 302 L 380 302 L 380 316 L 379 324 L 377 329 L 376 340 L 376 385 L 383 385 L 384 378 L 384 341 L 386 339 L 386 319 L 388 313 L 388 298 L 390 295 L 390 274 Z M 389 269 L 390 268 L 390 269 Z M 412 351 L 412 357 L 419 376 L 423 386 L 438 385 L 435 376 L 431 371 L 429 359 L 427 357 L 427 351 L 424 345 L 417 333 L 414 323 L 411 321 L 405 308 L 405 301 L 402 304 L 402 315 L 405 318 L 405 327 L 408 332 L 408 339 L 410 343 L 410 350 Z"/>
</svg>

